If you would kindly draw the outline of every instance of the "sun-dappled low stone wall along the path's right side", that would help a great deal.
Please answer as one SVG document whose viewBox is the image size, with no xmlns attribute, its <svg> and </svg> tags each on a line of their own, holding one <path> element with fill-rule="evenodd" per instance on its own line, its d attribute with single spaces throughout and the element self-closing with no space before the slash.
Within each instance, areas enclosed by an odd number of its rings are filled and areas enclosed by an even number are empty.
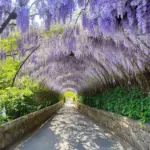
<svg viewBox="0 0 150 150">
<path fill-rule="evenodd" d="M 138 150 L 150 150 L 150 124 L 75 103 L 77 109 Z"/>
</svg>

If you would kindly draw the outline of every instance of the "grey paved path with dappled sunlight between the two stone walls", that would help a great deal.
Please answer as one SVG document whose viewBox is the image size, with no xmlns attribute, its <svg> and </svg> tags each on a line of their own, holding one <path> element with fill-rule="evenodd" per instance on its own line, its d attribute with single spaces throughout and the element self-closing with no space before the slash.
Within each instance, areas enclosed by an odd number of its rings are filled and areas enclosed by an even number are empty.
<svg viewBox="0 0 150 150">
<path fill-rule="evenodd" d="M 107 133 L 67 102 L 51 121 L 45 123 L 13 150 L 134 150 Z"/>
</svg>

